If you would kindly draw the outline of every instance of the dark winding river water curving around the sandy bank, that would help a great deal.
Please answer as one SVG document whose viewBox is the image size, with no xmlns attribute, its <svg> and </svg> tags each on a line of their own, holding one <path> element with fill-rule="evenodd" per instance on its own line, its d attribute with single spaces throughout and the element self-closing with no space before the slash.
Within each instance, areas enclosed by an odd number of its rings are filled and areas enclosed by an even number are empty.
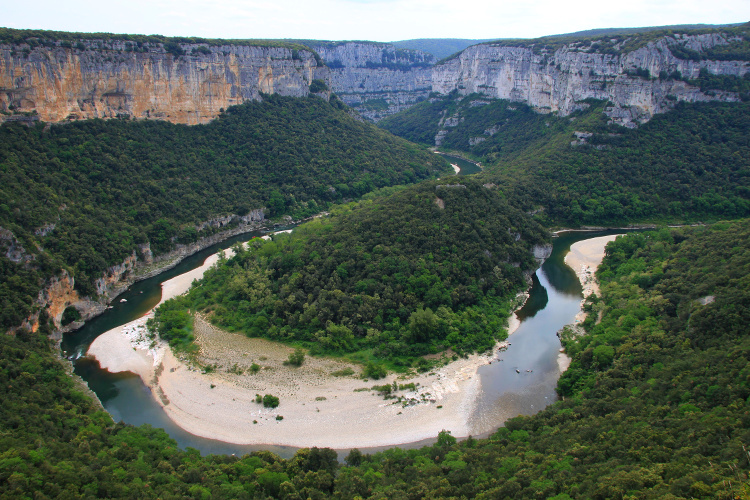
<svg viewBox="0 0 750 500">
<path fill-rule="evenodd" d="M 555 386 L 561 371 L 558 364 L 560 341 L 555 334 L 575 321 L 581 300 L 581 286 L 563 258 L 572 243 L 614 232 L 570 232 L 555 238 L 551 257 L 537 271 L 529 300 L 517 313 L 521 326 L 510 336 L 511 345 L 496 353 L 496 361 L 479 369 L 482 393 L 471 416 L 472 434 L 487 434 L 510 417 L 536 413 L 556 400 Z M 98 335 L 142 316 L 158 303 L 163 281 L 200 266 L 209 255 L 237 241 L 259 234 L 247 233 L 206 248 L 175 268 L 136 283 L 113 301 L 111 309 L 80 330 L 64 336 L 63 354 L 73 360 L 75 373 L 88 383 L 115 421 L 163 428 L 181 448 L 196 448 L 203 454 L 241 455 L 261 449 L 282 457 L 294 454 L 296 449 L 292 447 L 236 445 L 194 436 L 167 417 L 139 377 L 129 373 L 111 374 L 100 369 L 97 362 L 82 357 Z M 400 446 L 409 448 L 423 444 L 429 441 Z"/>
</svg>

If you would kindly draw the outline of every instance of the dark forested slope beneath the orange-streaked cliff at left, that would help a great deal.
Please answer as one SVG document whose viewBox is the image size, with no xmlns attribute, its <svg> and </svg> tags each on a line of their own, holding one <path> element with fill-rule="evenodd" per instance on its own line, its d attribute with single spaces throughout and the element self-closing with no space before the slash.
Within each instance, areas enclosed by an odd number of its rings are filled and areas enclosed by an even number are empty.
<svg viewBox="0 0 750 500">
<path fill-rule="evenodd" d="M 210 166 L 210 168 L 207 168 Z M 305 217 L 373 189 L 449 170 L 355 120 L 340 101 L 276 95 L 207 125 L 88 120 L 0 127 L 0 328 L 28 316 L 67 269 L 83 294 L 137 244 L 155 254 L 211 234 L 220 215 Z"/>
</svg>

